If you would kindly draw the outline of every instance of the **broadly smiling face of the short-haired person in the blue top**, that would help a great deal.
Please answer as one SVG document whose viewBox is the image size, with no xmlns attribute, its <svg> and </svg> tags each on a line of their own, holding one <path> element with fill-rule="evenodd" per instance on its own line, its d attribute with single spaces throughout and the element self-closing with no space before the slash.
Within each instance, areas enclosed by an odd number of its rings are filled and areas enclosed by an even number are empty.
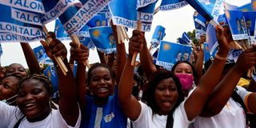
<svg viewBox="0 0 256 128">
<path fill-rule="evenodd" d="M 98 66 L 92 70 L 90 78 L 90 90 L 97 98 L 106 98 L 110 95 L 113 82 L 110 70 L 103 66 Z"/>
</svg>

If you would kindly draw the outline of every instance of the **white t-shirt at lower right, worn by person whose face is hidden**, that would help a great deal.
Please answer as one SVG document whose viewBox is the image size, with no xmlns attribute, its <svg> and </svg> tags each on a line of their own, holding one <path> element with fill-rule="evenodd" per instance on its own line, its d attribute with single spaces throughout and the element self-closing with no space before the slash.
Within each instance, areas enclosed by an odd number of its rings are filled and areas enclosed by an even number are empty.
<svg viewBox="0 0 256 128">
<path fill-rule="evenodd" d="M 237 86 L 237 93 L 245 101 L 246 95 L 250 94 L 241 86 Z M 211 117 L 194 119 L 195 128 L 244 128 L 246 127 L 246 114 L 242 106 L 232 98 L 226 103 L 222 111 Z"/>
</svg>

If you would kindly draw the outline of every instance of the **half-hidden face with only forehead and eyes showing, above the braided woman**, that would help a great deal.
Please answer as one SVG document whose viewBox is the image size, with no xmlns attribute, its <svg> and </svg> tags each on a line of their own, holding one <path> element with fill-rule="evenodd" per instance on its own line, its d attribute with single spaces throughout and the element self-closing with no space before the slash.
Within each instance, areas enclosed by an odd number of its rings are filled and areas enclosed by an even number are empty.
<svg viewBox="0 0 256 128">
<path fill-rule="evenodd" d="M 26 77 L 26 70 L 20 64 L 12 64 L 6 70 L 6 75 L 15 74 L 21 76 L 22 78 Z"/>
</svg>

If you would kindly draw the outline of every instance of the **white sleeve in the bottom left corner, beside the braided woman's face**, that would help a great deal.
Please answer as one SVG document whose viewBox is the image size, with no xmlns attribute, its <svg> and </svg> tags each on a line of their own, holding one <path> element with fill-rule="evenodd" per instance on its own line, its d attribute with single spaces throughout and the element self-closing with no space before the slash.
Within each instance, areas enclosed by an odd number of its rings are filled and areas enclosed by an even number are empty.
<svg viewBox="0 0 256 128">
<path fill-rule="evenodd" d="M 18 119 L 15 118 L 15 106 L 0 102 L 0 127 L 13 126 L 13 123 L 17 121 Z"/>
</svg>

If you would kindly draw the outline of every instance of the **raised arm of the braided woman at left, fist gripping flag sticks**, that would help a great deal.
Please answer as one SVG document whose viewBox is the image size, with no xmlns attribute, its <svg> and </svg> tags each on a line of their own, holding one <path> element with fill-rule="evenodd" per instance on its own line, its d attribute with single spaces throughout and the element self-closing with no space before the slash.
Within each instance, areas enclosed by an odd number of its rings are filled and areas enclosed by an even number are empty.
<svg viewBox="0 0 256 128">
<path fill-rule="evenodd" d="M 62 42 L 55 38 L 54 33 L 47 34 L 47 37 L 53 38 L 49 46 L 46 46 L 46 42 L 41 42 L 46 49 L 48 56 L 53 60 L 53 56 L 62 57 L 65 66 L 69 70 L 66 75 L 62 74 L 60 66 L 58 66 L 58 64 L 54 60 L 54 64 L 57 67 L 58 73 L 58 91 L 60 95 L 59 110 L 66 123 L 69 126 L 75 126 L 78 122 L 79 116 L 79 108 L 77 102 L 77 86 L 74 82 L 73 72 L 71 71 L 69 63 L 66 59 L 66 47 L 62 44 Z"/>
</svg>

